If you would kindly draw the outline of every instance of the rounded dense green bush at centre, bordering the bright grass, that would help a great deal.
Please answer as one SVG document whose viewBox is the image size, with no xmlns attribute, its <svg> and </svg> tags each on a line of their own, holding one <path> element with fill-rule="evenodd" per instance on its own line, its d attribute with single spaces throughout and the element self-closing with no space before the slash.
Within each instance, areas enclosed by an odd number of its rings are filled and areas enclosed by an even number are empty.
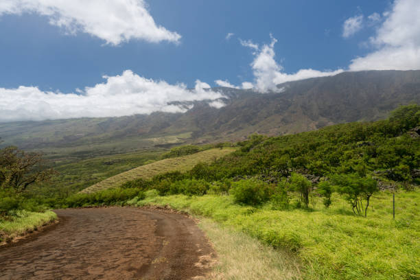
<svg viewBox="0 0 420 280">
<path fill-rule="evenodd" d="M 272 186 L 260 180 L 240 180 L 232 183 L 230 194 L 235 198 L 235 202 L 261 205 L 272 195 Z"/>
</svg>

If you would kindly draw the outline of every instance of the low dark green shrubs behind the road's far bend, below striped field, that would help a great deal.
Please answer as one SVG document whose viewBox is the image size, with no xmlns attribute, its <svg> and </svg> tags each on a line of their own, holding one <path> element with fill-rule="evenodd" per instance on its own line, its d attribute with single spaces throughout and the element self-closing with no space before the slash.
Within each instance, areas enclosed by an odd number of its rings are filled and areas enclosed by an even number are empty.
<svg viewBox="0 0 420 280">
<path fill-rule="evenodd" d="M 126 200 L 139 197 L 144 198 L 143 191 L 141 189 L 106 189 L 104 191 L 97 191 L 92 194 L 74 194 L 69 196 L 64 203 L 67 207 L 85 207 L 95 205 L 116 205 L 121 204 Z"/>
</svg>

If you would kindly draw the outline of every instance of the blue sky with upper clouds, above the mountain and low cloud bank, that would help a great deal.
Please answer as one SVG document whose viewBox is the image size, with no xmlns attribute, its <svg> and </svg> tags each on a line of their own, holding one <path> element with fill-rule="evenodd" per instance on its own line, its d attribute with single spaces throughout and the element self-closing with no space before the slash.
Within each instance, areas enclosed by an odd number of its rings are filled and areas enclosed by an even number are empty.
<svg viewBox="0 0 420 280">
<path fill-rule="evenodd" d="M 197 86 L 196 80 L 210 86 L 217 85 L 215 80 L 226 80 L 237 87 L 248 82 L 248 87 L 252 84 L 264 91 L 285 80 L 321 75 L 289 76 L 301 69 L 420 67 L 417 38 L 410 45 L 414 62 L 384 62 L 382 58 L 387 51 L 405 51 L 400 41 L 406 38 L 393 34 L 407 24 L 401 19 L 410 19 L 410 10 L 414 11 L 410 23 L 414 28 L 406 36 L 412 38 L 419 30 L 417 0 L 124 0 L 117 2 L 126 3 L 122 5 L 128 9 L 132 5 L 145 8 L 155 25 L 165 30 L 159 33 L 156 26 L 146 26 L 144 30 L 154 30 L 157 35 L 145 36 L 140 26 L 134 35 L 122 32 L 126 36 L 122 39 L 106 35 L 114 28 L 108 22 L 112 15 L 106 12 L 115 7 L 106 10 L 99 0 L 89 0 L 89 8 L 80 7 L 86 3 L 80 0 L 56 2 L 65 4 L 34 0 L 41 8 L 26 0 L 4 1 L 0 3 L 0 89 L 9 90 L 8 95 L 19 86 L 36 87 L 42 93 L 83 95 L 86 86 L 107 83 L 102 76 L 122 75 L 126 70 L 155 82 L 184 83 L 188 88 Z M 97 13 L 89 11 L 96 8 Z M 80 18 L 72 15 L 79 16 L 83 9 L 88 10 L 87 17 L 97 15 L 98 25 L 83 27 Z M 150 23 L 149 18 L 137 21 L 134 18 L 141 14 L 133 14 L 128 25 Z M 124 17 L 119 20 L 125 21 Z M 233 35 L 226 38 L 229 33 Z M 244 42 L 257 47 L 246 47 Z M 351 60 L 358 57 L 355 65 Z M 29 106 L 28 102 L 22 106 Z"/>
</svg>

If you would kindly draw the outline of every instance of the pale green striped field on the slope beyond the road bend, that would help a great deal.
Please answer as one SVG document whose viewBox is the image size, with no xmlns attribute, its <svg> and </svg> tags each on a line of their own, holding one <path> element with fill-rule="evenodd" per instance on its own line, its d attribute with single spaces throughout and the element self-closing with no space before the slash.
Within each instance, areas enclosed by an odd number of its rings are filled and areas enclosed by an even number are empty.
<svg viewBox="0 0 420 280">
<path fill-rule="evenodd" d="M 111 187 L 118 187 L 122 183 L 128 180 L 135 180 L 138 178 L 152 178 L 157 174 L 162 174 L 165 172 L 172 171 L 187 171 L 191 170 L 194 165 L 204 161 L 208 162 L 213 159 L 218 159 L 226 154 L 233 152 L 233 148 L 223 148 L 220 149 L 211 149 L 204 152 L 198 152 L 196 154 L 190 154 L 188 156 L 180 156 L 172 159 L 163 159 L 162 161 L 156 161 L 148 165 L 143 165 L 127 172 L 117 174 L 110 178 L 107 178 L 91 187 L 80 191 L 80 193 L 91 193 L 95 191 L 100 191 L 101 189 L 109 189 Z"/>
</svg>

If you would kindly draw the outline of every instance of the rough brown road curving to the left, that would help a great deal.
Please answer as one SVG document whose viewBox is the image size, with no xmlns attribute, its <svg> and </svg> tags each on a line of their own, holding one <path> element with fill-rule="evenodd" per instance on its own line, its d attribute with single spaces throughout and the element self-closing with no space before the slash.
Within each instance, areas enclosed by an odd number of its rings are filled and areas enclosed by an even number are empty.
<svg viewBox="0 0 420 280">
<path fill-rule="evenodd" d="M 214 259 L 205 235 L 178 213 L 128 207 L 56 213 L 58 224 L 0 247 L 1 280 L 200 279 Z"/>
</svg>

